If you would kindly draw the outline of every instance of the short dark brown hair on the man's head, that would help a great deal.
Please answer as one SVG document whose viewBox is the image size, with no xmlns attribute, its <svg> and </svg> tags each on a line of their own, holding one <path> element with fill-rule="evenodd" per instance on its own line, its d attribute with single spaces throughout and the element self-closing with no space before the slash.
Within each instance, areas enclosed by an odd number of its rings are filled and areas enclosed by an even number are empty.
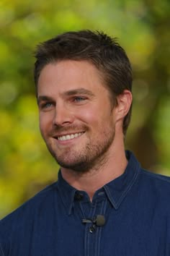
<svg viewBox="0 0 170 256">
<path fill-rule="evenodd" d="M 86 60 L 94 64 L 102 74 L 104 85 L 116 104 L 116 97 L 124 90 L 132 90 L 132 69 L 125 50 L 116 38 L 91 30 L 63 33 L 40 43 L 35 51 L 35 85 L 45 65 L 62 60 Z M 131 107 L 123 120 L 125 135 L 130 123 Z"/>
</svg>

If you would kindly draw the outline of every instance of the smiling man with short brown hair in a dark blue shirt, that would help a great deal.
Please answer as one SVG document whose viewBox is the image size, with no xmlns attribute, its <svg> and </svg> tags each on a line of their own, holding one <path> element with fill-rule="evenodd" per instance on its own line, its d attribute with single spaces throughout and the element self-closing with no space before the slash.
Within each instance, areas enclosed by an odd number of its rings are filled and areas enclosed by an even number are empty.
<svg viewBox="0 0 170 256">
<path fill-rule="evenodd" d="M 104 33 L 64 33 L 37 47 L 40 131 L 58 182 L 0 223 L 3 256 L 170 255 L 170 183 L 125 152 L 132 72 Z"/>
</svg>

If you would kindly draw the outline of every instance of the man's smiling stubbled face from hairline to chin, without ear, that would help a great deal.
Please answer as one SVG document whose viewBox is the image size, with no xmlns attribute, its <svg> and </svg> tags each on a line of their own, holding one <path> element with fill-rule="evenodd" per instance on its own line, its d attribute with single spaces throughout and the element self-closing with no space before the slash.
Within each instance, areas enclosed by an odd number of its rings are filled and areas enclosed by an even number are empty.
<svg viewBox="0 0 170 256">
<path fill-rule="evenodd" d="M 63 168 L 89 171 L 109 157 L 115 108 L 99 71 L 88 61 L 47 64 L 37 85 L 40 131 Z"/>
</svg>

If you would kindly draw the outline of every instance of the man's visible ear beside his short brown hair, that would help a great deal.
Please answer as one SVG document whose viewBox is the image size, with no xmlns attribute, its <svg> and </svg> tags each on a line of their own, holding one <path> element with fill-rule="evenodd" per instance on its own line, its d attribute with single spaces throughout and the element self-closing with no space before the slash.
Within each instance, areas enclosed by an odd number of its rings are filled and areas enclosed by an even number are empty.
<svg viewBox="0 0 170 256">
<path fill-rule="evenodd" d="M 133 95 L 130 90 L 124 90 L 122 94 L 117 96 L 117 106 L 115 106 L 116 120 L 124 119 L 128 114 L 133 101 Z"/>
</svg>

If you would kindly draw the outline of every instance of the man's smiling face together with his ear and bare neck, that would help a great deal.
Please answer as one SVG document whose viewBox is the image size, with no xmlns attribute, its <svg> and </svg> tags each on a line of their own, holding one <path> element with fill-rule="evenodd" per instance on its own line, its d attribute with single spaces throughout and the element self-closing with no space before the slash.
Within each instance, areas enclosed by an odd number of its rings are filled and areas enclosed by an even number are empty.
<svg viewBox="0 0 170 256">
<path fill-rule="evenodd" d="M 42 137 L 63 178 L 79 189 L 87 185 L 92 200 L 96 189 L 127 166 L 122 120 L 132 101 L 130 91 L 117 96 L 115 106 L 94 64 L 62 60 L 42 69 L 37 101 Z M 112 171 L 113 165 L 119 168 Z"/>
</svg>

